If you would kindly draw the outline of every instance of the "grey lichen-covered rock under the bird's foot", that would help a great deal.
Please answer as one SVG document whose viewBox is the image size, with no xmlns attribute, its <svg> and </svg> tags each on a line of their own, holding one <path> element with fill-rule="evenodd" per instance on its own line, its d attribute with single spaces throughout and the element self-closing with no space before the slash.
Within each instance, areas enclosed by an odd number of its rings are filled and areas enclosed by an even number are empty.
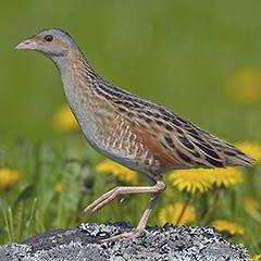
<svg viewBox="0 0 261 261">
<path fill-rule="evenodd" d="M 239 245 L 224 240 L 212 227 L 165 225 L 148 227 L 129 241 L 99 244 L 99 239 L 129 231 L 126 223 L 82 224 L 74 229 L 53 229 L 22 244 L 0 247 L 1 261 L 247 261 Z"/>
</svg>

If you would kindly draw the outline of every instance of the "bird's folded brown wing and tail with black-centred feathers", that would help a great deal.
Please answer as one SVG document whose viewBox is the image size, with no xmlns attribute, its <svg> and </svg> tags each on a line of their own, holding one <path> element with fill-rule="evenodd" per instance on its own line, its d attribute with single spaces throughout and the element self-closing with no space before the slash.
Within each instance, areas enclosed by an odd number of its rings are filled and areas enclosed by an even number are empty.
<svg viewBox="0 0 261 261">
<path fill-rule="evenodd" d="M 114 99 L 123 114 L 132 117 L 146 144 L 172 159 L 173 167 L 225 167 L 248 165 L 253 159 L 224 140 L 200 129 L 162 105 L 135 96 Z M 142 135 L 144 133 L 144 135 Z"/>
</svg>

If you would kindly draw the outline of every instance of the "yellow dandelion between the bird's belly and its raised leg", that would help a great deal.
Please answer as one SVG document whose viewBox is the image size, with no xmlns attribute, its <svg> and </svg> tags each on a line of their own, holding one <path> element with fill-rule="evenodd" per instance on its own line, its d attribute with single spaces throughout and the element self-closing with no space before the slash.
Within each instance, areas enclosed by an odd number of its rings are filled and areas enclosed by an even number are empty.
<svg viewBox="0 0 261 261">
<path fill-rule="evenodd" d="M 125 183 L 137 183 L 138 174 L 111 160 L 104 160 L 96 166 L 97 172 L 109 173 Z"/>
</svg>

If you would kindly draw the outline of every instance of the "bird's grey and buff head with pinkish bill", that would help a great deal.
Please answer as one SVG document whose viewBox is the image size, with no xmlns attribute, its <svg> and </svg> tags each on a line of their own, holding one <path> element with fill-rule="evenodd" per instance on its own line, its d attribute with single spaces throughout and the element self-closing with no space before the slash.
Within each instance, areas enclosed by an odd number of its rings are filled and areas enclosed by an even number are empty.
<svg viewBox="0 0 261 261">
<path fill-rule="evenodd" d="M 62 29 L 44 29 L 23 40 L 15 49 L 36 50 L 50 58 L 64 57 L 76 48 L 73 38 Z"/>
</svg>

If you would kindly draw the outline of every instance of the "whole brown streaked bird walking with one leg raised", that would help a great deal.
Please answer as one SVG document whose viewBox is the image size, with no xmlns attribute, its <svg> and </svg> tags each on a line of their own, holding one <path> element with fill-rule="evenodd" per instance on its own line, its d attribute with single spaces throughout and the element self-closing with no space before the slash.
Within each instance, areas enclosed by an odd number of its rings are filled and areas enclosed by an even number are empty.
<svg viewBox="0 0 261 261">
<path fill-rule="evenodd" d="M 103 79 L 63 29 L 42 29 L 21 41 L 15 49 L 35 50 L 51 59 L 60 73 L 69 105 L 89 145 L 147 177 L 148 186 L 117 186 L 84 210 L 94 213 L 128 194 L 150 195 L 136 228 L 103 241 L 129 240 L 144 234 L 157 199 L 165 189 L 163 176 L 169 171 L 245 166 L 254 161 L 164 105 Z"/>
</svg>

